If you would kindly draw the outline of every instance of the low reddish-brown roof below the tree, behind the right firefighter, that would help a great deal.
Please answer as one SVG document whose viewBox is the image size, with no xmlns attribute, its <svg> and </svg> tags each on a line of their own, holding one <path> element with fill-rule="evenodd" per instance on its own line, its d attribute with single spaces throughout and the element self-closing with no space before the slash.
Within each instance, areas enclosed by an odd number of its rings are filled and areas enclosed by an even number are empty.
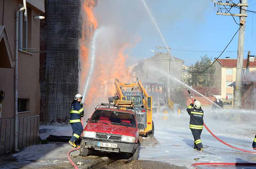
<svg viewBox="0 0 256 169">
<path fill-rule="evenodd" d="M 210 91 L 210 87 L 194 86 L 192 88 L 204 96 L 207 95 L 207 93 L 209 93 L 209 91 Z M 190 92 L 192 95 L 194 94 L 194 97 L 202 97 L 200 94 L 198 94 L 192 90 L 190 90 Z M 216 86 L 213 86 L 213 87 L 211 87 L 211 94 L 212 95 L 220 95 L 221 92 Z"/>
</svg>

